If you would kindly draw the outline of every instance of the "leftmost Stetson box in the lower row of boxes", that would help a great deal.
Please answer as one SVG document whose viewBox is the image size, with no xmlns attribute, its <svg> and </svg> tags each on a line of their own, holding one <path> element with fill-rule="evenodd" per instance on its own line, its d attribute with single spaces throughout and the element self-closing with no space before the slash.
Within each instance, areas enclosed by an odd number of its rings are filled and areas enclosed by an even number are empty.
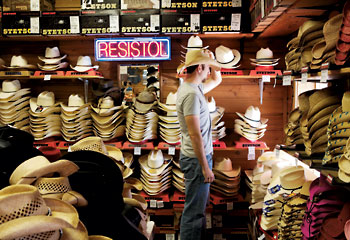
<svg viewBox="0 0 350 240">
<path fill-rule="evenodd" d="M 3 12 L 3 35 L 39 35 L 40 12 Z"/>
</svg>

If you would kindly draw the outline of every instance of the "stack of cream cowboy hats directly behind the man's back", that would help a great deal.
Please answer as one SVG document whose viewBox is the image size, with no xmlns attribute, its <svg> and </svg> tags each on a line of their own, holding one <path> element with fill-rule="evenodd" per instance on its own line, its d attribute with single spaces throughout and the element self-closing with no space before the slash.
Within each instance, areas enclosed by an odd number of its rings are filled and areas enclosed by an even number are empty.
<svg viewBox="0 0 350 240">
<path fill-rule="evenodd" d="M 176 112 L 176 93 L 170 92 L 166 98 L 166 103 L 158 101 L 158 107 L 165 114 L 159 115 L 160 138 L 169 144 L 180 142 L 180 123 Z"/>
</svg>

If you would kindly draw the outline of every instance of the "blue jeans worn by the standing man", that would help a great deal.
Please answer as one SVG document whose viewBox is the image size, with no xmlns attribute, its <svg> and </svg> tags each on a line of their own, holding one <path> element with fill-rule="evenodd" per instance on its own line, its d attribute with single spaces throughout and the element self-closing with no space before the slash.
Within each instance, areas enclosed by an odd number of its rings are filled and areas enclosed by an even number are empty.
<svg viewBox="0 0 350 240">
<path fill-rule="evenodd" d="M 212 155 L 206 156 L 210 169 Z M 210 183 L 204 183 L 202 167 L 197 158 L 180 153 L 180 167 L 185 175 L 185 207 L 180 223 L 181 240 L 200 240 L 205 230 L 205 208 L 209 197 Z"/>
</svg>

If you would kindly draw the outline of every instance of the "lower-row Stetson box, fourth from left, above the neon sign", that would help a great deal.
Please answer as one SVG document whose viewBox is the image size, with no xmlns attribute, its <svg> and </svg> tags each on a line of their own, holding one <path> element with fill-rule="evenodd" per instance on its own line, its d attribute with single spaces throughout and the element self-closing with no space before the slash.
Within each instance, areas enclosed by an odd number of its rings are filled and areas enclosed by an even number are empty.
<svg viewBox="0 0 350 240">
<path fill-rule="evenodd" d="M 123 34 L 159 33 L 159 10 L 121 10 L 120 24 Z"/>
</svg>

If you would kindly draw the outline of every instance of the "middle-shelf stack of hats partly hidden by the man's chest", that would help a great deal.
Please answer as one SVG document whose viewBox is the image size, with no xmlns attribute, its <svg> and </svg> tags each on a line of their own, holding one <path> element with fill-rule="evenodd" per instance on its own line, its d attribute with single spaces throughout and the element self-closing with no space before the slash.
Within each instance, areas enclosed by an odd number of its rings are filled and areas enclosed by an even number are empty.
<svg viewBox="0 0 350 240">
<path fill-rule="evenodd" d="M 225 108 L 217 107 L 214 97 L 208 99 L 207 103 L 211 118 L 211 133 L 213 141 L 216 141 L 226 136 L 225 122 L 221 121 L 222 117 L 224 116 Z"/>
</svg>

